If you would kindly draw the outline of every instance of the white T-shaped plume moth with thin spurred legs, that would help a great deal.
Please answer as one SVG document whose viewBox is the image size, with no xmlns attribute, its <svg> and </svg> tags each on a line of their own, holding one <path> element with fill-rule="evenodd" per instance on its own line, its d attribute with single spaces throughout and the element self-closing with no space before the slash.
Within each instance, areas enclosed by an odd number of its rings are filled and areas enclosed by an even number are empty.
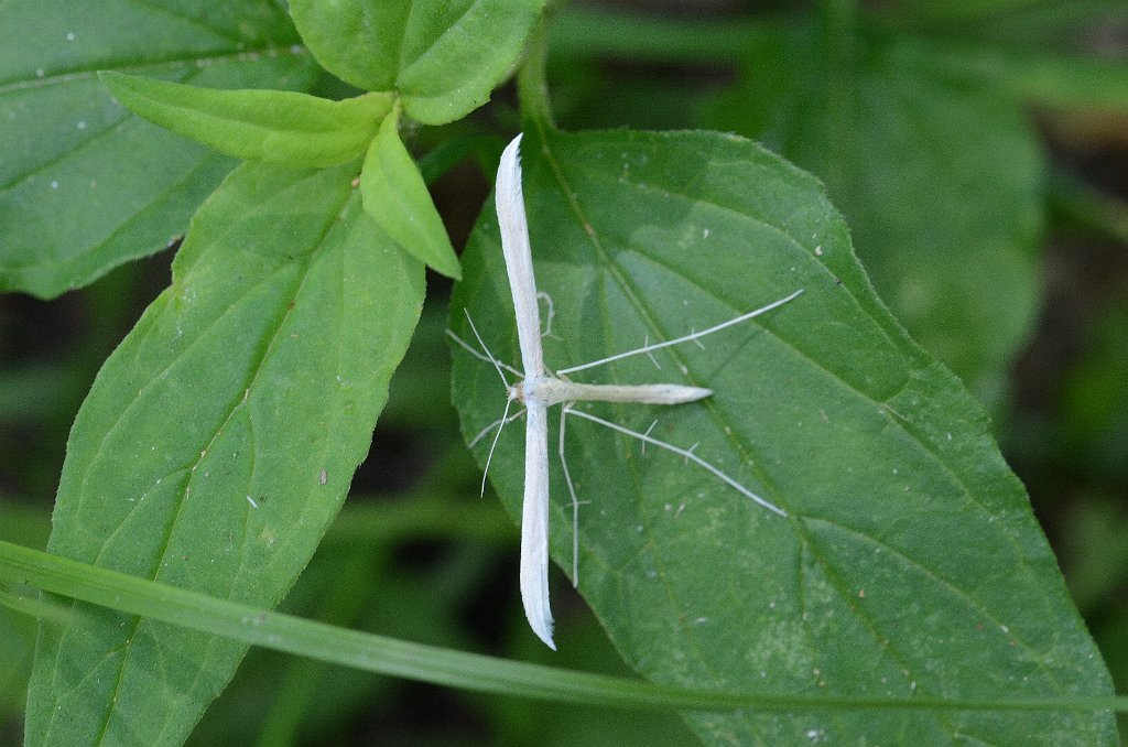
<svg viewBox="0 0 1128 747">
<path fill-rule="evenodd" d="M 695 386 L 684 386 L 680 384 L 643 384 L 643 385 L 617 385 L 617 384 L 580 384 L 571 381 L 566 377 L 569 374 L 601 366 L 615 360 L 620 360 L 629 355 L 650 354 L 655 350 L 677 345 L 684 342 L 699 340 L 705 335 L 713 334 L 725 327 L 740 324 L 755 316 L 775 309 L 791 301 L 799 296 L 802 290 L 796 290 L 790 296 L 773 301 L 728 322 L 723 322 L 702 332 L 660 342 L 647 344 L 637 350 L 632 350 L 617 355 L 611 355 L 598 361 L 561 369 L 555 375 L 545 368 L 544 351 L 540 339 L 540 311 L 537 305 L 537 283 L 532 273 L 532 255 L 529 247 L 529 229 L 525 214 L 525 200 L 521 193 L 521 165 L 519 160 L 519 149 L 521 135 L 518 135 L 505 148 L 502 153 L 501 164 L 497 167 L 497 184 L 495 190 L 495 201 L 497 206 L 497 220 L 501 230 L 502 252 L 505 255 L 505 270 L 509 274 L 510 291 L 513 296 L 513 310 L 517 317 L 517 334 L 521 348 L 521 368 L 518 371 L 509 366 L 500 363 L 486 349 L 485 343 L 474 328 L 470 320 L 470 328 L 474 331 L 478 343 L 485 350 L 485 354 L 474 350 L 470 345 L 459 340 L 451 333 L 451 336 L 462 348 L 472 354 L 488 360 L 497 369 L 499 375 L 509 393 L 509 403 L 501 420 L 491 424 L 481 436 L 497 427 L 497 434 L 494 438 L 494 446 L 501 434 L 501 428 L 511 420 L 509 418 L 509 405 L 513 401 L 525 404 L 526 436 L 525 436 L 525 500 L 521 510 L 521 603 L 525 606 L 526 617 L 532 631 L 549 648 L 556 648 L 553 643 L 553 618 L 548 604 L 548 407 L 555 404 L 563 405 L 561 414 L 559 451 L 563 460 L 564 448 L 564 420 L 566 415 L 573 414 L 579 418 L 599 423 L 619 433 L 632 436 L 643 441 L 682 456 L 687 462 L 703 467 L 716 478 L 721 480 L 744 496 L 760 504 L 761 507 L 786 516 L 783 509 L 760 498 L 748 490 L 739 482 L 717 469 L 712 464 L 705 462 L 693 449 L 682 449 L 667 443 L 650 436 L 650 431 L 642 433 L 624 428 L 616 423 L 608 422 L 596 415 L 574 410 L 571 405 L 580 401 L 594 402 L 618 402 L 618 403 L 643 403 L 659 405 L 675 405 L 695 402 L 713 394 L 712 389 Z M 469 319 L 469 316 L 467 316 Z M 502 368 L 521 377 L 514 385 L 509 385 Z M 475 442 L 477 439 L 475 439 Z M 490 458 L 493 457 L 491 448 Z M 486 468 L 488 469 L 488 459 Z M 575 489 L 569 474 L 567 463 L 564 463 L 564 477 L 572 493 L 573 520 L 578 521 L 575 513 L 579 500 Z M 578 541 L 573 531 L 573 578 L 578 571 Z"/>
</svg>

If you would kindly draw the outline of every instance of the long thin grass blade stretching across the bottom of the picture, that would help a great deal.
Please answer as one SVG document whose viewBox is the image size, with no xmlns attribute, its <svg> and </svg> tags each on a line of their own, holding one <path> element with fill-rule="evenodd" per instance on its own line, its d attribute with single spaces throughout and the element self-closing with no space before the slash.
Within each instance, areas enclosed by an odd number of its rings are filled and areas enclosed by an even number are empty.
<svg viewBox="0 0 1128 747">
<path fill-rule="evenodd" d="M 605 708 L 765 712 L 853 709 L 1128 712 L 1128 697 L 944 700 L 759 695 L 664 687 L 343 630 L 0 542 L 0 580 L 255 645 L 449 687 Z"/>
</svg>

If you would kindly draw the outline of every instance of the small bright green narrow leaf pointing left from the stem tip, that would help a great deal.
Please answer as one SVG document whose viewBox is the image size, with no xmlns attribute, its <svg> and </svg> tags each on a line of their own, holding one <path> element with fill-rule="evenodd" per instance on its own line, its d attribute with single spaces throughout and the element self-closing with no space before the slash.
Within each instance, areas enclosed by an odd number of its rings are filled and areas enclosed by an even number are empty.
<svg viewBox="0 0 1128 747">
<path fill-rule="evenodd" d="M 333 102 L 285 90 L 215 90 L 120 72 L 106 88 L 153 124 L 236 158 L 336 166 L 368 147 L 391 111 L 390 94 Z"/>
</svg>

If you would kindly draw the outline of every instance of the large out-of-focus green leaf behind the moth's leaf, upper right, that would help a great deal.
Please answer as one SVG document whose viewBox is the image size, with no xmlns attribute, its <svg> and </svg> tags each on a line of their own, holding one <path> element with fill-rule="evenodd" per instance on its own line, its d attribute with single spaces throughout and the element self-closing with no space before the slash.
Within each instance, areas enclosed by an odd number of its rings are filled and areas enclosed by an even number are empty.
<svg viewBox="0 0 1128 747">
<path fill-rule="evenodd" d="M 913 46 L 841 62 L 781 30 L 717 123 L 827 182 L 898 319 L 994 402 L 1038 310 L 1045 164 L 1016 100 L 931 74 Z"/>
</svg>

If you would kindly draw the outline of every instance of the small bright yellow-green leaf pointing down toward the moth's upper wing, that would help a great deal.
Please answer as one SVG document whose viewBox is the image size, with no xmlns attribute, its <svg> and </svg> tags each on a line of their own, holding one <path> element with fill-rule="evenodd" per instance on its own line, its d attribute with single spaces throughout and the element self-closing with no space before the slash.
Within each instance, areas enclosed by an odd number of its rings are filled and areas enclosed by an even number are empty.
<svg viewBox="0 0 1128 747">
<path fill-rule="evenodd" d="M 360 174 L 364 211 L 416 260 L 458 280 L 462 271 L 455 247 L 418 167 L 399 140 L 398 118 L 384 120 L 364 157 Z"/>
</svg>

